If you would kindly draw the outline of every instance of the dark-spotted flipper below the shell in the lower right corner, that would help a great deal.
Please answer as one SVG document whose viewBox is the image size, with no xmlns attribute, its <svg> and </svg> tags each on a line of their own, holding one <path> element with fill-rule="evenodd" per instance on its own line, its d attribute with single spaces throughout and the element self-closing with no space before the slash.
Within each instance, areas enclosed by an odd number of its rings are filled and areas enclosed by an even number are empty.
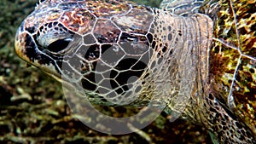
<svg viewBox="0 0 256 144">
<path fill-rule="evenodd" d="M 233 112 L 218 101 L 216 94 L 209 93 L 205 97 L 204 107 L 206 113 L 202 117 L 206 117 L 206 125 L 210 131 L 213 143 L 255 143 L 253 133 L 247 129 L 245 124 L 239 122 Z M 218 140 L 218 141 L 217 141 Z"/>
</svg>

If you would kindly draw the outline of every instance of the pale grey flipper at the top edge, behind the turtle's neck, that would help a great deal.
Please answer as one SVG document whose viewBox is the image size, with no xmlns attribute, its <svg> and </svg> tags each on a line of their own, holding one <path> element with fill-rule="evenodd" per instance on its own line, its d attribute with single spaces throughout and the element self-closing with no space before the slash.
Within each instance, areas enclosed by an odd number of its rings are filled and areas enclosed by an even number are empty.
<svg viewBox="0 0 256 144">
<path fill-rule="evenodd" d="M 202 3 L 204 3 L 203 0 L 163 0 L 160 8 L 174 14 L 188 16 L 197 13 Z"/>
</svg>

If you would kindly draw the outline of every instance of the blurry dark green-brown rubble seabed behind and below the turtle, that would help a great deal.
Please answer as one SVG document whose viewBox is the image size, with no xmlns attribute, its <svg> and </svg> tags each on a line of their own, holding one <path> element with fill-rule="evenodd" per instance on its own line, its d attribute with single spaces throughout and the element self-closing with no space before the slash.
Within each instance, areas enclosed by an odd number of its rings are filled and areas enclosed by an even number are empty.
<svg viewBox="0 0 256 144">
<path fill-rule="evenodd" d="M 160 4 L 160 0 L 135 2 L 151 7 Z M 61 84 L 27 66 L 15 54 L 15 32 L 36 3 L 37 0 L 0 1 L 0 144 L 212 143 L 201 126 L 183 120 L 170 123 L 164 112 L 148 127 L 129 135 L 102 134 L 79 122 L 67 106 Z M 120 111 L 98 108 L 117 115 Z"/>
</svg>

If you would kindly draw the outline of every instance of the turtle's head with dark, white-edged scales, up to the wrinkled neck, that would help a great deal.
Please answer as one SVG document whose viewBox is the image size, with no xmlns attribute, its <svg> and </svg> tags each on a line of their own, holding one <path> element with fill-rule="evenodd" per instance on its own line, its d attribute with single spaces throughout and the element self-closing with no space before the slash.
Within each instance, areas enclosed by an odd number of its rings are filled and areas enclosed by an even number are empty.
<svg viewBox="0 0 256 144">
<path fill-rule="evenodd" d="M 152 53 L 152 10 L 117 1 L 51 1 L 38 3 L 22 22 L 17 55 L 54 78 L 81 84 L 91 95 L 139 91 L 133 84 Z"/>
</svg>

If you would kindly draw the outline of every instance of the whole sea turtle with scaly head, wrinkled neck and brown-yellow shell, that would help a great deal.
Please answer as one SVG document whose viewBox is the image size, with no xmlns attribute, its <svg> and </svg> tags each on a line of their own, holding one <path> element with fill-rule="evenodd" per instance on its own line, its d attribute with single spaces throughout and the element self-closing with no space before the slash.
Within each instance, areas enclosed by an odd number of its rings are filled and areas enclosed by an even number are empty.
<svg viewBox="0 0 256 144">
<path fill-rule="evenodd" d="M 53 78 L 81 83 L 92 103 L 164 102 L 167 113 L 204 125 L 220 143 L 255 143 L 256 1 L 161 7 L 40 0 L 15 51 Z"/>
</svg>

